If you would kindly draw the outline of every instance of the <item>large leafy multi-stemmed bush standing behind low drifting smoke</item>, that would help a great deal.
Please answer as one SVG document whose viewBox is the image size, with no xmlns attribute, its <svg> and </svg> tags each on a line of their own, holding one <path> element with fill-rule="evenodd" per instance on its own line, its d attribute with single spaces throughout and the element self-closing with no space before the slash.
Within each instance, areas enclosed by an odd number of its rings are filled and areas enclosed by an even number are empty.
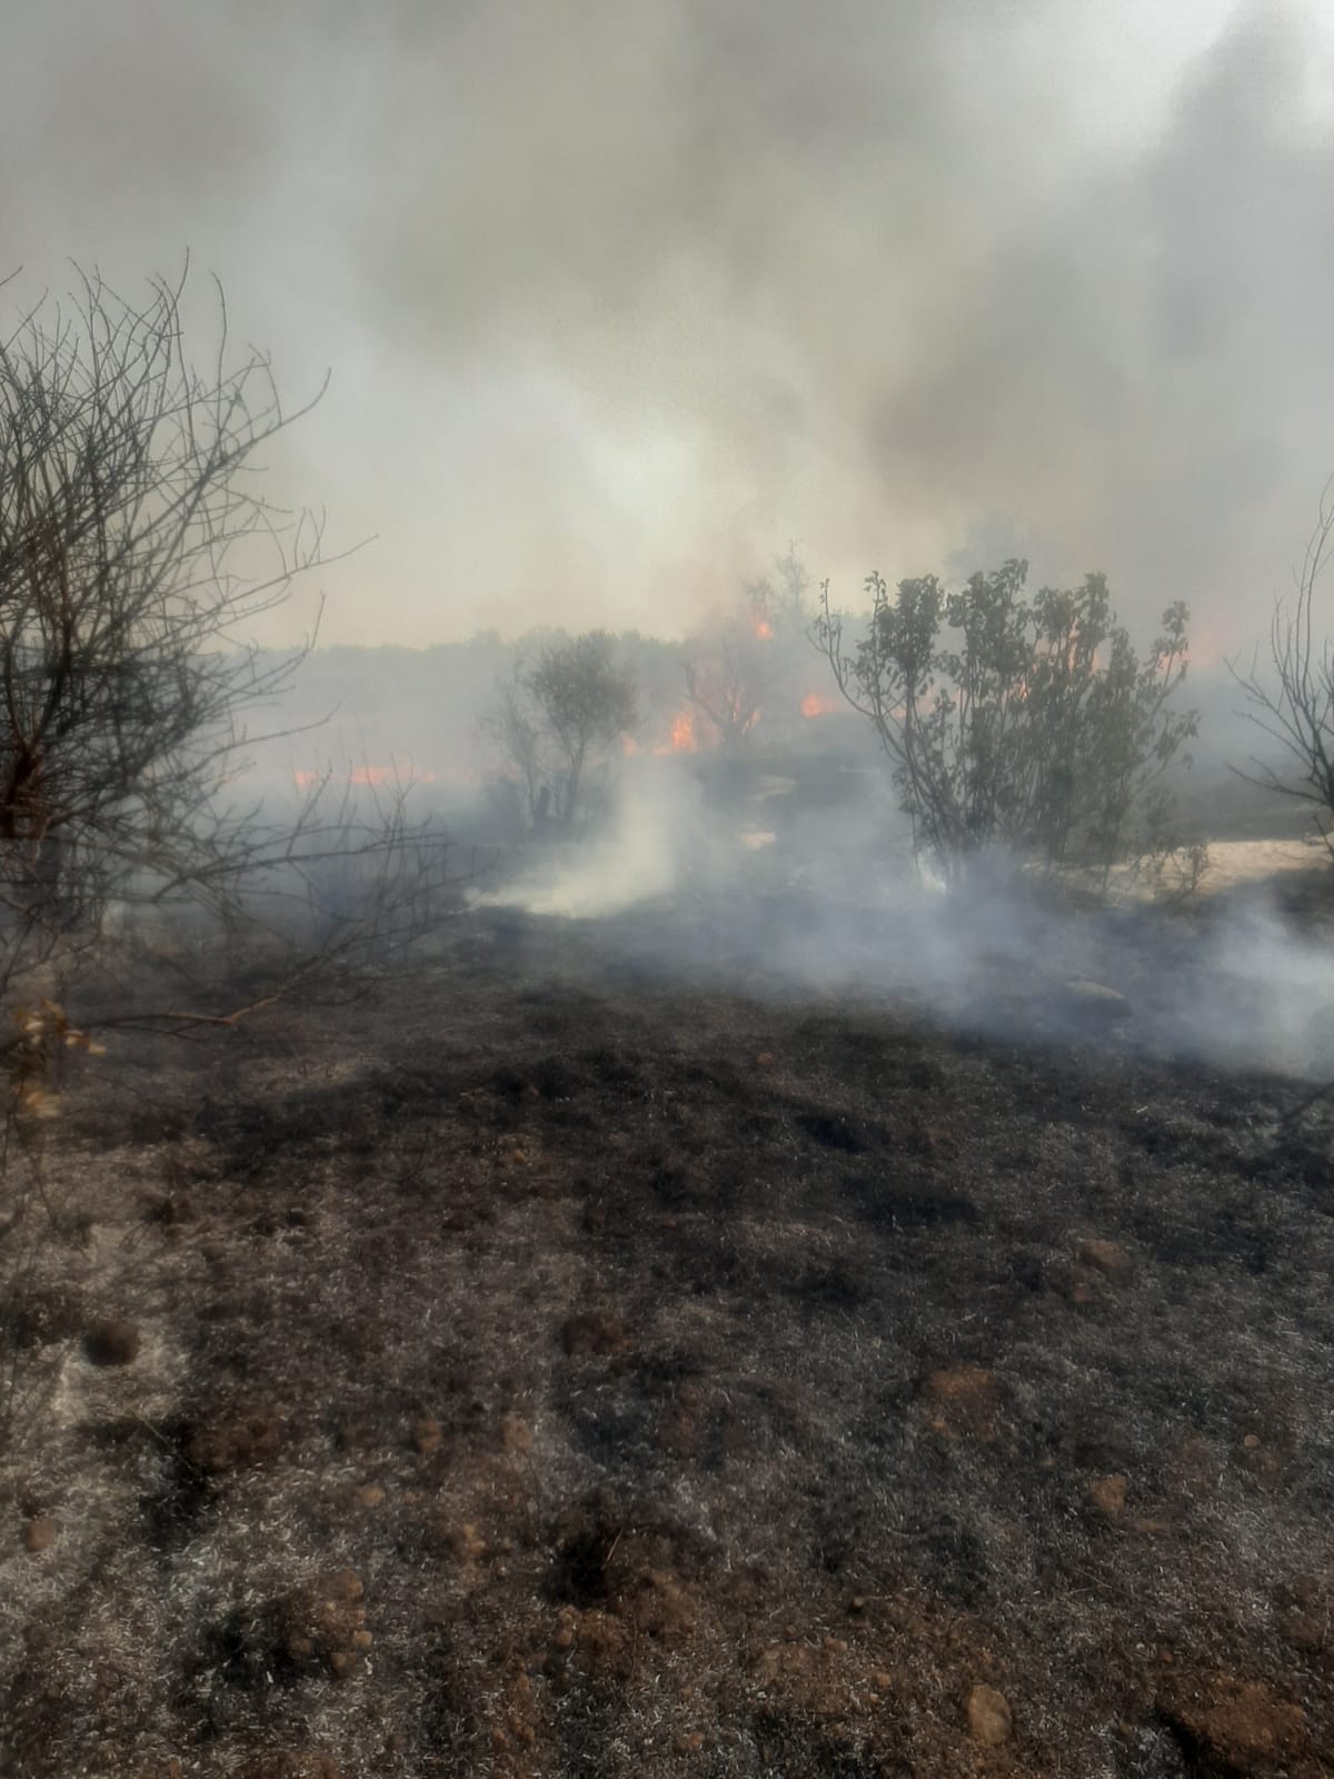
<svg viewBox="0 0 1334 1779">
<path fill-rule="evenodd" d="M 872 575 L 852 653 L 822 587 L 813 640 L 872 722 L 914 843 L 950 882 L 998 850 L 1106 877 L 1197 728 L 1193 712 L 1167 708 L 1186 671 L 1185 605 L 1140 660 L 1101 575 L 1032 601 L 1026 575 L 1005 562 L 959 592 L 928 575 L 900 582 L 896 598 Z"/>
</svg>

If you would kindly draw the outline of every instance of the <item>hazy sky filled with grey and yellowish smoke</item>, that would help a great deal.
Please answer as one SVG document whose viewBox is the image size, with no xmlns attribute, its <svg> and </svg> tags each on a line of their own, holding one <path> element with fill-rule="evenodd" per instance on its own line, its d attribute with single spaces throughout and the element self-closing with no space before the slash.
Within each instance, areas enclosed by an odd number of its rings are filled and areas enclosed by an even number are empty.
<svg viewBox="0 0 1334 1779">
<path fill-rule="evenodd" d="M 681 632 L 795 539 L 848 601 L 1103 568 L 1208 651 L 1334 470 L 1334 7 L 16 9 L 0 297 L 185 247 L 333 368 L 274 454 L 377 534 L 324 640 Z"/>
</svg>

